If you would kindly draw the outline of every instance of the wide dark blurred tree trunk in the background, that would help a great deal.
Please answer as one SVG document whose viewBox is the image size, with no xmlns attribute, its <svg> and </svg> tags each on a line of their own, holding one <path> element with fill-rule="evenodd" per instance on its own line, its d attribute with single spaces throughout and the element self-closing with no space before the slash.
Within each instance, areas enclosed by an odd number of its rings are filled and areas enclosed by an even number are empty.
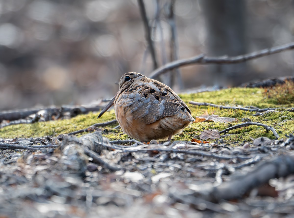
<svg viewBox="0 0 294 218">
<path fill-rule="evenodd" d="M 245 54 L 246 5 L 244 0 L 200 0 L 206 22 L 206 47 L 209 56 Z M 235 86 L 246 80 L 247 65 L 210 66 L 214 85 Z"/>
</svg>

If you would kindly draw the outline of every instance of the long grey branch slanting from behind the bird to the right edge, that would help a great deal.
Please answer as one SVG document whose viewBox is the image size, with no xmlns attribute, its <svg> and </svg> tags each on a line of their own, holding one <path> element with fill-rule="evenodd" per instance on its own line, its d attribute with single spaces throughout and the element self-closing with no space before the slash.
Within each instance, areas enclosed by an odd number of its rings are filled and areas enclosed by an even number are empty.
<svg viewBox="0 0 294 218">
<path fill-rule="evenodd" d="M 234 57 L 228 57 L 228 56 L 221 56 L 221 57 L 206 57 L 205 54 L 200 54 L 188 59 L 182 59 L 170 62 L 166 65 L 163 65 L 162 67 L 154 70 L 150 78 L 155 78 L 158 75 L 161 75 L 162 73 L 166 72 L 167 70 L 172 70 L 177 67 L 191 65 L 191 64 L 235 64 L 240 62 L 245 62 L 251 59 L 255 59 L 258 57 L 268 56 L 270 54 L 276 54 L 282 51 L 291 50 L 294 49 L 294 42 L 276 46 L 273 48 L 263 49 L 260 51 L 252 52 L 249 54 L 244 55 L 238 55 Z"/>
</svg>

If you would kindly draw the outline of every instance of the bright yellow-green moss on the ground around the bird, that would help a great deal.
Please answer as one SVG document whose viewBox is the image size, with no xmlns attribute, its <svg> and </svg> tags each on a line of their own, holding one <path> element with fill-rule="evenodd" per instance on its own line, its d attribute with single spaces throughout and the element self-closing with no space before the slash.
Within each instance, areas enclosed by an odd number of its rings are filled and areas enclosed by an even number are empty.
<svg viewBox="0 0 294 218">
<path fill-rule="evenodd" d="M 203 92 L 195 94 L 181 94 L 180 97 L 188 103 L 189 101 L 207 102 L 216 105 L 224 106 L 255 106 L 258 108 L 276 108 L 276 107 L 293 107 L 293 104 L 277 105 L 273 104 L 272 100 L 265 98 L 264 90 L 260 88 L 230 88 L 215 92 Z M 246 112 L 243 110 L 226 110 L 206 106 L 195 106 L 188 104 L 192 111 L 192 116 L 200 116 L 206 110 L 209 114 L 212 112 L 220 117 L 233 117 L 237 118 L 239 122 L 233 123 L 219 123 L 219 122 L 203 122 L 192 123 L 184 131 L 173 137 L 172 140 L 190 141 L 191 138 L 200 135 L 206 129 L 223 130 L 229 126 L 242 123 L 242 118 L 248 118 L 253 122 L 260 122 L 266 125 L 272 125 L 280 137 L 286 134 L 293 133 L 294 131 L 294 113 L 285 110 L 265 113 L 259 116 L 253 116 L 255 112 Z M 115 119 L 114 110 L 106 112 L 101 118 L 97 119 L 99 113 L 89 113 L 87 115 L 78 115 L 70 120 L 56 120 L 49 122 L 39 122 L 33 124 L 19 124 L 11 125 L 0 129 L 0 138 L 15 138 L 15 137 L 42 137 L 42 136 L 57 136 L 61 133 L 66 134 L 83 128 L 87 128 L 94 123 L 102 123 Z M 128 136 L 123 134 L 121 129 L 113 130 L 116 125 L 109 125 L 102 127 L 103 136 L 110 140 L 127 139 Z M 250 137 L 257 138 L 266 136 L 274 139 L 271 131 L 266 131 L 265 128 L 251 125 L 248 127 L 238 128 L 230 131 L 229 133 L 236 133 L 232 136 L 227 136 L 224 141 L 243 143 L 250 141 Z M 213 141 L 213 140 L 212 140 Z"/>
</svg>

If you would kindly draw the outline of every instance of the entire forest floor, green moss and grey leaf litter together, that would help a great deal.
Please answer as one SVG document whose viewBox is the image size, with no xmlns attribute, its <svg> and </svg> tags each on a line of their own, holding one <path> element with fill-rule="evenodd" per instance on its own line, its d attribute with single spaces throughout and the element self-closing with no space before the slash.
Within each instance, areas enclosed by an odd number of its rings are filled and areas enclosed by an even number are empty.
<svg viewBox="0 0 294 218">
<path fill-rule="evenodd" d="M 0 216 L 293 216 L 293 103 L 261 88 L 180 97 L 198 122 L 171 142 L 129 138 L 113 110 L 1 120 Z"/>
</svg>

